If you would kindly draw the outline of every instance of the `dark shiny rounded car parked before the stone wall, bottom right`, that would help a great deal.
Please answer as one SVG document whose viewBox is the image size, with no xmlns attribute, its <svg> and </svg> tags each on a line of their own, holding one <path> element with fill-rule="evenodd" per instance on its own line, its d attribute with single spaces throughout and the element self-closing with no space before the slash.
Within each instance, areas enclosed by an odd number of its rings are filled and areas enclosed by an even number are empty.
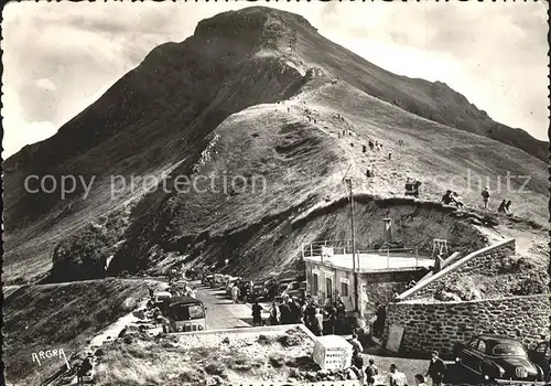
<svg viewBox="0 0 551 386">
<path fill-rule="evenodd" d="M 503 335 L 482 334 L 454 346 L 455 362 L 485 382 L 534 384 L 543 369 L 528 358 L 522 344 Z"/>
</svg>

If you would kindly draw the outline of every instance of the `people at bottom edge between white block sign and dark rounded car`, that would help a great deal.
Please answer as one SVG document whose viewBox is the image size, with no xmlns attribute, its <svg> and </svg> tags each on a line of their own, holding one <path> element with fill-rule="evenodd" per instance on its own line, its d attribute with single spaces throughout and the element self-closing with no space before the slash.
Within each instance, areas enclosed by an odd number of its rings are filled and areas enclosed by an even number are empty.
<svg viewBox="0 0 551 386">
<path fill-rule="evenodd" d="M 353 340 L 350 341 L 350 344 L 353 345 L 352 369 L 364 385 L 374 386 L 376 385 L 377 378 L 380 375 L 379 368 L 375 365 L 375 361 L 372 358 L 369 358 L 368 365 L 365 366 L 361 351 L 356 344 L 354 344 L 354 341 L 355 337 L 353 336 Z M 439 357 L 439 353 L 434 351 L 431 354 L 431 362 L 429 364 L 426 374 L 414 375 L 415 385 L 426 386 L 426 377 L 430 377 L 432 379 L 433 386 L 442 386 L 445 372 L 446 366 L 444 364 L 444 361 L 442 361 Z M 390 386 L 408 386 L 408 377 L 404 373 L 399 371 L 398 366 L 395 363 L 392 363 L 389 367 L 389 380 Z"/>
</svg>

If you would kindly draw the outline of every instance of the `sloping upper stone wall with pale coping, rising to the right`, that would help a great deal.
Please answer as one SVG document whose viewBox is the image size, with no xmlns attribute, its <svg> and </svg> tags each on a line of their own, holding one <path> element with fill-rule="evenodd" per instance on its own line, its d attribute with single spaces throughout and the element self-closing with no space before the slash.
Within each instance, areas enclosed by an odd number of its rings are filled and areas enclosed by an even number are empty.
<svg viewBox="0 0 551 386">
<path fill-rule="evenodd" d="M 454 283 L 461 277 L 468 275 L 483 274 L 489 277 L 500 275 L 503 260 L 512 254 L 515 254 L 515 239 L 479 249 L 445 267 L 421 287 L 404 292 L 400 300 L 432 298 L 442 286 Z"/>
</svg>

